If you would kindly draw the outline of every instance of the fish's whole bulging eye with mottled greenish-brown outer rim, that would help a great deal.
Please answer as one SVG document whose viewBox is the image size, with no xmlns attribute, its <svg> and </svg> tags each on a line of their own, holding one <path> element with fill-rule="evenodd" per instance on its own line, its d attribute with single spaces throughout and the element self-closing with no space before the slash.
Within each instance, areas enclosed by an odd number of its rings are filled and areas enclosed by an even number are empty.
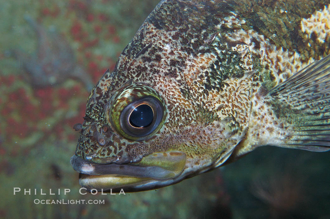
<svg viewBox="0 0 330 219">
<path fill-rule="evenodd" d="M 116 94 L 108 115 L 119 135 L 129 140 L 143 141 L 151 138 L 163 126 L 166 105 L 153 88 L 145 84 L 133 84 Z"/>
</svg>

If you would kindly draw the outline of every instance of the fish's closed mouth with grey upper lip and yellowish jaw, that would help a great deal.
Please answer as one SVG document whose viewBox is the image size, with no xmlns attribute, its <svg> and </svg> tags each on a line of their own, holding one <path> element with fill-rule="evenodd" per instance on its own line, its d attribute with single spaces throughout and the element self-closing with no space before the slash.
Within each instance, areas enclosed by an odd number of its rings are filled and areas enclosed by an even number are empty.
<svg viewBox="0 0 330 219">
<path fill-rule="evenodd" d="M 131 164 L 97 164 L 77 155 L 70 159 L 79 172 L 79 184 L 87 190 L 136 192 L 156 189 L 183 179 L 186 154 L 181 151 L 156 152 Z"/>
</svg>

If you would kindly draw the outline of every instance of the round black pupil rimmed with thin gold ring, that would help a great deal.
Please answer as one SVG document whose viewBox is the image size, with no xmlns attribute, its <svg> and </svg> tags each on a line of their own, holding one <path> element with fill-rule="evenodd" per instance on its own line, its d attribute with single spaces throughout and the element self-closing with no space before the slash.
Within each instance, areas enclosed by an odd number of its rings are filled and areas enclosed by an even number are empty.
<svg viewBox="0 0 330 219">
<path fill-rule="evenodd" d="M 152 123 L 153 112 L 149 105 L 141 104 L 137 106 L 129 116 L 129 123 L 137 128 L 147 127 Z"/>
</svg>

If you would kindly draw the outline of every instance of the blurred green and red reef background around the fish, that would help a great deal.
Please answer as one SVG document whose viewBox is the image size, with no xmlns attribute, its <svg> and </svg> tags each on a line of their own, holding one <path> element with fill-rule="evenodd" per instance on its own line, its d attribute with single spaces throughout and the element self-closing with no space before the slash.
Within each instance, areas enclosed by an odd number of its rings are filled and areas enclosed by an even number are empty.
<svg viewBox="0 0 330 219">
<path fill-rule="evenodd" d="M 165 188 L 79 193 L 70 165 L 79 132 L 72 127 L 83 122 L 91 88 L 114 69 L 158 2 L 0 0 L 0 217 L 330 218 L 329 152 L 261 147 Z M 14 187 L 22 191 L 14 195 Z"/>
</svg>

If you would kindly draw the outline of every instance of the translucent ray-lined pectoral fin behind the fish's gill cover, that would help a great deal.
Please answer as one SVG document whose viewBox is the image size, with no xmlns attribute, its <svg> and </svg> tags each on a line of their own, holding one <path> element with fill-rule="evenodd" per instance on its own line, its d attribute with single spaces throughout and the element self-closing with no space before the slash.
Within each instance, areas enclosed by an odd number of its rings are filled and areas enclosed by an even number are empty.
<svg viewBox="0 0 330 219">
<path fill-rule="evenodd" d="M 265 96 L 289 133 L 280 147 L 330 150 L 330 55 L 297 72 Z"/>
</svg>

